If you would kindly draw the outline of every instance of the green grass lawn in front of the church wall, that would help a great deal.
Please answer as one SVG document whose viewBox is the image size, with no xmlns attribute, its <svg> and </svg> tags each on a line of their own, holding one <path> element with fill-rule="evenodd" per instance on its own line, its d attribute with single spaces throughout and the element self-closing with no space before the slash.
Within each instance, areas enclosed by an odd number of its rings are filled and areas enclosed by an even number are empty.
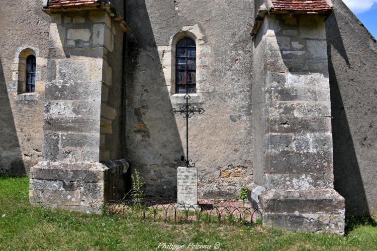
<svg viewBox="0 0 377 251">
<path fill-rule="evenodd" d="M 377 227 L 365 219 L 347 220 L 345 237 L 259 226 L 126 220 L 32 207 L 28 186 L 25 177 L 0 178 L 0 250 L 155 250 L 159 242 L 219 242 L 218 250 L 377 250 Z"/>
</svg>

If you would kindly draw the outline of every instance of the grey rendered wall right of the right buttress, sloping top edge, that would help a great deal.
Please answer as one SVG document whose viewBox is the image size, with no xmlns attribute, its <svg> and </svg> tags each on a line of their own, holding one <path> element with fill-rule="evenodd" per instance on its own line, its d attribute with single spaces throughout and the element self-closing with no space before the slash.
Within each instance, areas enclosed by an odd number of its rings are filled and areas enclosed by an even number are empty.
<svg viewBox="0 0 377 251">
<path fill-rule="evenodd" d="M 340 0 L 326 21 L 334 186 L 347 214 L 377 215 L 377 43 Z"/>
</svg>

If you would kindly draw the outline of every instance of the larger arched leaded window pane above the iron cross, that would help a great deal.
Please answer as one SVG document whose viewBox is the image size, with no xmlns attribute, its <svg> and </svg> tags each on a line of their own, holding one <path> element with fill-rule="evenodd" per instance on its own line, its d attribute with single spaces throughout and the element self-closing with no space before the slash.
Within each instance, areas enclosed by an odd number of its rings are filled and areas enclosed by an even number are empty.
<svg viewBox="0 0 377 251">
<path fill-rule="evenodd" d="M 176 93 L 196 93 L 196 58 L 195 41 L 183 38 L 176 45 L 175 88 Z"/>
</svg>

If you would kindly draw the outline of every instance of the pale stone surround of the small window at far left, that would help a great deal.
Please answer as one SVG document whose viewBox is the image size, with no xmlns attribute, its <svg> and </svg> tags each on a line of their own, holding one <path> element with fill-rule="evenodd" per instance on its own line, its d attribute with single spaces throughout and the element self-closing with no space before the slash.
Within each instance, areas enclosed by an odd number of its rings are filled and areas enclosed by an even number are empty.
<svg viewBox="0 0 377 251">
<path fill-rule="evenodd" d="M 39 93 L 26 92 L 26 59 L 33 55 L 36 58 L 36 76 L 35 82 L 41 78 L 39 50 L 32 46 L 19 47 L 16 50 L 14 62 L 12 65 L 12 85 L 9 87 L 10 92 L 16 92 L 15 98 L 17 100 L 37 100 Z"/>
</svg>

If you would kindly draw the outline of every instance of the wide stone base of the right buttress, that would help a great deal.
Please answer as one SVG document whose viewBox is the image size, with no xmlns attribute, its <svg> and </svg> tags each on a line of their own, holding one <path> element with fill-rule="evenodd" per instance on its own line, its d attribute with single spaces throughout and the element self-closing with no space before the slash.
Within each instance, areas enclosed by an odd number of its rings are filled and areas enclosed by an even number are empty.
<svg viewBox="0 0 377 251">
<path fill-rule="evenodd" d="M 266 190 L 252 184 L 248 199 L 262 208 L 264 226 L 344 235 L 344 198 L 333 189 Z"/>
</svg>

